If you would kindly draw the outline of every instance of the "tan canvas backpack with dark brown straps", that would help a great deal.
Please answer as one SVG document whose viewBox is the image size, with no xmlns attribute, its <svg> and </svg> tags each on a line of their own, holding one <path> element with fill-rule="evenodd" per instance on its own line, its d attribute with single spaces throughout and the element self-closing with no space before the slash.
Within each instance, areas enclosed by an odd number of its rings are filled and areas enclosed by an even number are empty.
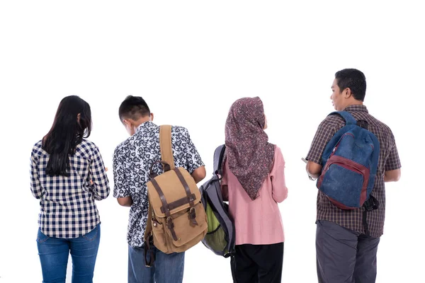
<svg viewBox="0 0 425 283">
<path fill-rule="evenodd" d="M 174 166 L 171 149 L 171 126 L 159 128 L 164 173 L 152 174 L 147 183 L 149 216 L 145 230 L 145 260 L 154 244 L 163 253 L 181 253 L 199 243 L 207 233 L 207 216 L 198 186 L 185 168 Z M 154 261 L 151 254 L 150 262 Z"/>
</svg>

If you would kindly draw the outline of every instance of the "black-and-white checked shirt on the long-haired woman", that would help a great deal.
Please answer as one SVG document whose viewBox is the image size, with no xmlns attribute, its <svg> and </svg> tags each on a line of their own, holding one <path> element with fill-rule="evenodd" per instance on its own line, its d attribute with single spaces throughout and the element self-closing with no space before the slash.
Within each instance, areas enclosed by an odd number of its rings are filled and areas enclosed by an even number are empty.
<svg viewBox="0 0 425 283">
<path fill-rule="evenodd" d="M 83 139 L 69 156 L 69 177 L 46 175 L 49 154 L 42 141 L 31 152 L 31 192 L 40 200 L 38 224 L 55 238 L 77 238 L 93 230 L 101 219 L 94 200 L 108 197 L 109 181 L 97 146 Z M 90 183 L 93 181 L 93 184 Z"/>
</svg>

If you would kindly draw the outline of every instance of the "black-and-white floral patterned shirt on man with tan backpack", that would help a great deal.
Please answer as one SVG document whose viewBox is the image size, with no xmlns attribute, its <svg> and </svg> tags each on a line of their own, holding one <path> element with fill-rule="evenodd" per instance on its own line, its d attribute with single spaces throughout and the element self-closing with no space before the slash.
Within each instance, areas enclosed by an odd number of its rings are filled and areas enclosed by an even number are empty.
<svg viewBox="0 0 425 283">
<path fill-rule="evenodd" d="M 184 127 L 171 127 L 171 147 L 176 167 L 189 173 L 204 166 L 189 132 Z M 132 206 L 128 221 L 128 244 L 133 248 L 143 246 L 147 224 L 147 182 L 152 163 L 161 160 L 159 126 L 145 122 L 129 139 L 117 146 L 113 155 L 114 197 L 131 197 Z M 162 173 L 156 164 L 154 173 Z"/>
</svg>

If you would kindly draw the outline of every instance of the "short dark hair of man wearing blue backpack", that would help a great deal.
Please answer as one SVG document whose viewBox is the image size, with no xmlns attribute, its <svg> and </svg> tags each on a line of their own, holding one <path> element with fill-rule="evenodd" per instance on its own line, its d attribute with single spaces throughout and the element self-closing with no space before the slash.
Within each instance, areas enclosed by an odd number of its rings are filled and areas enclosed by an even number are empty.
<svg viewBox="0 0 425 283">
<path fill-rule="evenodd" d="M 336 83 L 339 90 L 350 88 L 356 100 L 363 101 L 366 94 L 366 78 L 358 69 L 344 69 L 335 73 Z"/>
</svg>

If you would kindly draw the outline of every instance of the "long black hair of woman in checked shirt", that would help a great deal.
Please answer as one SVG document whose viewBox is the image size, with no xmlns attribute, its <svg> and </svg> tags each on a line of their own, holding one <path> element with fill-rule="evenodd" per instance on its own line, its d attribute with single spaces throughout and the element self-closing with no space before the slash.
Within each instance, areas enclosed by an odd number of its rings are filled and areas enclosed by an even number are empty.
<svg viewBox="0 0 425 283">
<path fill-rule="evenodd" d="M 77 119 L 78 115 L 79 121 Z M 50 154 L 47 175 L 69 176 L 69 155 L 83 138 L 91 133 L 91 110 L 89 103 L 78 96 L 67 96 L 59 103 L 52 128 L 42 139 L 42 149 Z"/>
</svg>

